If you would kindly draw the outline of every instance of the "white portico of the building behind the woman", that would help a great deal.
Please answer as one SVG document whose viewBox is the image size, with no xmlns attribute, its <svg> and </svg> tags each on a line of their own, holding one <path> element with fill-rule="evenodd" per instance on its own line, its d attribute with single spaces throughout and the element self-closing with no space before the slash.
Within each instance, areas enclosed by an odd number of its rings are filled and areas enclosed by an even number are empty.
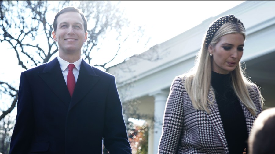
<svg viewBox="0 0 275 154">
<path fill-rule="evenodd" d="M 145 119 L 155 121 L 149 130 L 148 154 L 157 154 L 165 103 L 174 77 L 194 66 L 205 31 L 220 16 L 234 14 L 244 23 L 248 37 L 241 60 L 245 62 L 252 82 L 263 88 L 264 109 L 275 107 L 274 8 L 275 1 L 246 1 L 138 55 L 151 57 L 157 54 L 160 56 L 157 61 L 133 56 L 125 63 L 109 68 L 108 72 L 116 76 L 120 95 L 125 91 L 128 93 L 123 100 L 139 100 L 139 112 L 154 116 L 154 119 Z M 125 72 L 125 69 L 130 72 Z"/>
</svg>

